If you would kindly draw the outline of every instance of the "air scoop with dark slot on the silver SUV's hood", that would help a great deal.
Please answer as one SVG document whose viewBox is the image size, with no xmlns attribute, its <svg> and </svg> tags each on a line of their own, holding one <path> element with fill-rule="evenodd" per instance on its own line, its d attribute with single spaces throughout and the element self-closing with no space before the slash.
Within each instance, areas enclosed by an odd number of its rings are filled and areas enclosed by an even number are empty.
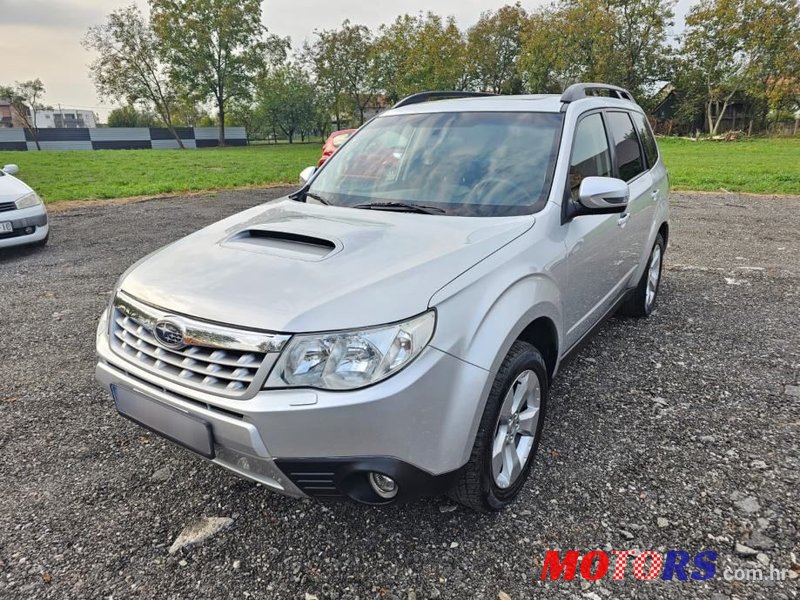
<svg viewBox="0 0 800 600">
<path fill-rule="evenodd" d="M 341 249 L 341 244 L 313 235 L 258 228 L 239 231 L 221 245 L 223 248 L 311 261 L 323 260 Z"/>
</svg>

